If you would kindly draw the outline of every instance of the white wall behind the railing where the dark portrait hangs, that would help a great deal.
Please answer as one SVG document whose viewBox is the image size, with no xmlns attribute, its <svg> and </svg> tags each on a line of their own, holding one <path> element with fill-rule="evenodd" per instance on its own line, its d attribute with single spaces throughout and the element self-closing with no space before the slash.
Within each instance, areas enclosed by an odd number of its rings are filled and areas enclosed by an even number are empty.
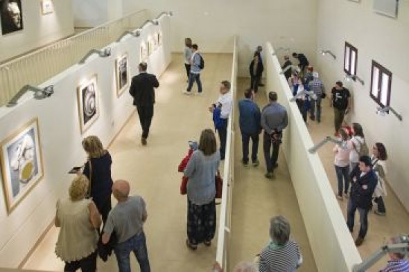
<svg viewBox="0 0 409 272">
<path fill-rule="evenodd" d="M 23 30 L 0 35 L 0 62 L 73 34 L 71 1 L 53 0 L 54 12 L 41 14 L 40 0 L 21 0 Z"/>
</svg>

